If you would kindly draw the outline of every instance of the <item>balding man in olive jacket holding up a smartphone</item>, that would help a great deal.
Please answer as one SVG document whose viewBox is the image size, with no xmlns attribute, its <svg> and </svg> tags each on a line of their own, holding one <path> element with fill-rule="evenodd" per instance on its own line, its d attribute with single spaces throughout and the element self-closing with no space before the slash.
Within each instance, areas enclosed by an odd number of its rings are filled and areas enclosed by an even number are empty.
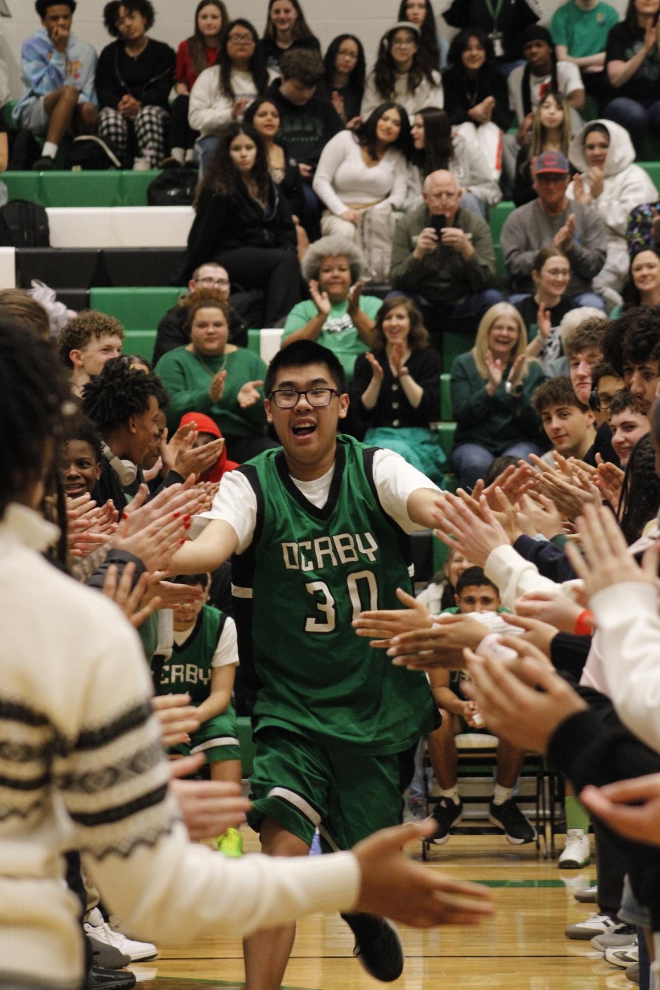
<svg viewBox="0 0 660 990">
<path fill-rule="evenodd" d="M 390 281 L 422 307 L 430 331 L 447 319 L 481 316 L 503 295 L 496 281 L 495 250 L 488 224 L 460 205 L 462 189 L 446 170 L 424 181 L 424 203 L 395 229 Z"/>
</svg>

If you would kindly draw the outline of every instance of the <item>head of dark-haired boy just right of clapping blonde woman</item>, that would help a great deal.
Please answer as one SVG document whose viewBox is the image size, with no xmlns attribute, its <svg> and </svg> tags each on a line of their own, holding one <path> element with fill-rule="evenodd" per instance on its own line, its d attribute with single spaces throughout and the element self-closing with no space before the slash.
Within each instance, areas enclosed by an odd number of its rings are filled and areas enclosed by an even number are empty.
<svg viewBox="0 0 660 990">
<path fill-rule="evenodd" d="M 584 460 L 596 438 L 594 414 L 576 397 L 568 375 L 543 382 L 534 392 L 532 403 L 552 444 L 552 450 L 544 453 L 541 460 L 553 467 L 555 450 L 564 457 Z"/>
</svg>

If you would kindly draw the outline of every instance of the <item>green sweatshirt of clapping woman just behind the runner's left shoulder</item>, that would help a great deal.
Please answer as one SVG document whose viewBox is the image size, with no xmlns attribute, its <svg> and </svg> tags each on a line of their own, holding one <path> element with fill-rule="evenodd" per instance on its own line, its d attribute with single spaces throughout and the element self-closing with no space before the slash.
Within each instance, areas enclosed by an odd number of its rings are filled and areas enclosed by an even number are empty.
<svg viewBox="0 0 660 990">
<path fill-rule="evenodd" d="M 218 371 L 227 371 L 225 391 L 220 402 L 213 402 L 209 386 Z M 252 437 L 264 433 L 266 413 L 263 402 L 255 402 L 247 409 L 240 409 L 237 395 L 248 381 L 263 381 L 266 365 L 251 350 L 237 350 L 218 357 L 201 357 L 187 347 L 175 347 L 163 354 L 155 366 L 155 372 L 170 394 L 165 410 L 167 429 L 176 430 L 184 413 L 206 413 L 214 420 L 221 433 L 230 437 Z M 259 389 L 263 399 L 263 389 Z"/>
</svg>

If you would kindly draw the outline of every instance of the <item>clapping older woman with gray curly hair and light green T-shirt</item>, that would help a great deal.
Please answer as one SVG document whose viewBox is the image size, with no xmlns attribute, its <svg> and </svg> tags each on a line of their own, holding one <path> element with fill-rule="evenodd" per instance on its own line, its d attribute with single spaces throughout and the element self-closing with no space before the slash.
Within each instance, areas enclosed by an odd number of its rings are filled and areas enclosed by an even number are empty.
<svg viewBox="0 0 660 990">
<path fill-rule="evenodd" d="M 383 305 L 376 296 L 362 295 L 364 255 L 347 238 L 321 238 L 303 257 L 303 276 L 310 286 L 306 299 L 289 313 L 282 347 L 294 341 L 318 341 L 330 347 L 353 376 L 358 354 L 371 347 L 371 334 Z"/>
</svg>

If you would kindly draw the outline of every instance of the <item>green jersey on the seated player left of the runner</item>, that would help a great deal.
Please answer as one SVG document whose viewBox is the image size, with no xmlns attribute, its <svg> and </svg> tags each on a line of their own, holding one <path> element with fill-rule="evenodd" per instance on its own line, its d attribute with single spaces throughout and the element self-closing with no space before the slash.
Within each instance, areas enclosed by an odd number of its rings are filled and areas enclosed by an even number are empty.
<svg viewBox="0 0 660 990">
<path fill-rule="evenodd" d="M 176 643 L 163 664 L 158 694 L 187 691 L 193 705 L 201 705 L 211 694 L 211 662 L 227 616 L 212 605 L 203 605 L 195 628 L 184 644 Z"/>
</svg>

